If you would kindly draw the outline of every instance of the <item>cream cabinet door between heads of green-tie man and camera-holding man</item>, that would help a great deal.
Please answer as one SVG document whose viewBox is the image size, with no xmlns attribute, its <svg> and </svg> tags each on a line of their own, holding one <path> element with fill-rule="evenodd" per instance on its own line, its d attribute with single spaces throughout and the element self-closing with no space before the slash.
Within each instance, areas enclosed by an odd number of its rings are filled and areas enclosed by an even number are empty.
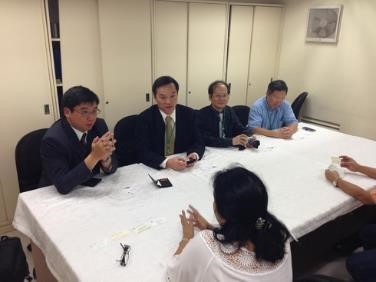
<svg viewBox="0 0 376 282">
<path fill-rule="evenodd" d="M 224 79 L 227 45 L 226 4 L 189 3 L 188 106 L 209 104 L 208 86 Z"/>
</svg>

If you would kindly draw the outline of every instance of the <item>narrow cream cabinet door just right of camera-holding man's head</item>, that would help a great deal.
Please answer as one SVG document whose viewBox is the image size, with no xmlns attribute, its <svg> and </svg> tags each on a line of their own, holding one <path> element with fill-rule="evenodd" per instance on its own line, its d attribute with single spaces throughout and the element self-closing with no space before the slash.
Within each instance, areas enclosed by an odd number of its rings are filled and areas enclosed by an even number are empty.
<svg viewBox="0 0 376 282">
<path fill-rule="evenodd" d="M 232 106 L 247 103 L 253 9 L 252 6 L 231 6 L 227 82 L 231 83 L 229 104 Z"/>
</svg>

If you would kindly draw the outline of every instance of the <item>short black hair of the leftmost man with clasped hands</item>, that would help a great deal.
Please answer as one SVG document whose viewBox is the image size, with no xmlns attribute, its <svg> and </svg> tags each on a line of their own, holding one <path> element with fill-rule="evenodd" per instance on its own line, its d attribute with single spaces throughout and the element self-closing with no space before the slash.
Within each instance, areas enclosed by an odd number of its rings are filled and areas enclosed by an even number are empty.
<svg viewBox="0 0 376 282">
<path fill-rule="evenodd" d="M 82 103 L 96 103 L 99 105 L 97 94 L 84 86 L 74 86 L 69 88 L 63 95 L 61 107 L 73 111 L 74 107 Z"/>
</svg>

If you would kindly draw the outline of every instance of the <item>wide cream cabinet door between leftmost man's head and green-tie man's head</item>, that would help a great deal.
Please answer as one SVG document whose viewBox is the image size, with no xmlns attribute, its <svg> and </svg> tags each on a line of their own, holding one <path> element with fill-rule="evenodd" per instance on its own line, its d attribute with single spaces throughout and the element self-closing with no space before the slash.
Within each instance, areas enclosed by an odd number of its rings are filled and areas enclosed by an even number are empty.
<svg viewBox="0 0 376 282">
<path fill-rule="evenodd" d="M 105 118 L 113 128 L 151 105 L 151 9 L 149 0 L 99 0 L 98 5 Z"/>
</svg>

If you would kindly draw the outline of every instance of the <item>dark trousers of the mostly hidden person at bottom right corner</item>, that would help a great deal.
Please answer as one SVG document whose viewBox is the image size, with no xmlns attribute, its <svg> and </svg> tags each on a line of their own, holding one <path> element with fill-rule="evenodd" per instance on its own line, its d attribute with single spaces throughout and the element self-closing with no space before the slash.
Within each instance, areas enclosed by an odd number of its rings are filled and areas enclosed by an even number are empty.
<svg viewBox="0 0 376 282">
<path fill-rule="evenodd" d="M 348 257 L 346 267 L 356 282 L 376 281 L 376 224 L 367 225 L 359 234 L 364 251 Z"/>
</svg>

